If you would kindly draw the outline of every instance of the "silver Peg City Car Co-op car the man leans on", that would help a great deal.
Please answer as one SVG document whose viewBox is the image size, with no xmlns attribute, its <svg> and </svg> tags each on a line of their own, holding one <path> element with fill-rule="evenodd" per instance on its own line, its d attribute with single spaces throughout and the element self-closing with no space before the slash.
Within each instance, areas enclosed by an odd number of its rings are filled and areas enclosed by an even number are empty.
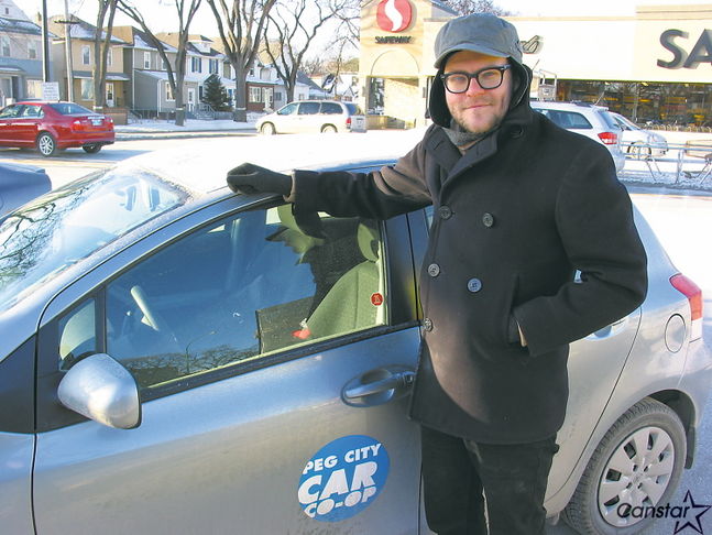
<svg viewBox="0 0 712 535">
<path fill-rule="evenodd" d="M 3 533 L 428 533 L 406 417 L 427 210 L 300 226 L 215 151 L 0 225 Z M 712 382 L 702 296 L 636 222 L 649 293 L 573 343 L 546 499 L 588 533 L 669 500 Z"/>
</svg>

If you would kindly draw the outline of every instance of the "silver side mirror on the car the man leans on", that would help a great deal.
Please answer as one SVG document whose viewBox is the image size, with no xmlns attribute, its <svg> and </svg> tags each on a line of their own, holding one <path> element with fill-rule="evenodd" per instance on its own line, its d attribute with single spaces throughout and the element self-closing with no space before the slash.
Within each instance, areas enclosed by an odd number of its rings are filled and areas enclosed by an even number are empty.
<svg viewBox="0 0 712 535">
<path fill-rule="evenodd" d="M 109 427 L 133 429 L 141 425 L 141 400 L 133 375 L 106 353 L 74 364 L 59 382 L 62 404 Z"/>
</svg>

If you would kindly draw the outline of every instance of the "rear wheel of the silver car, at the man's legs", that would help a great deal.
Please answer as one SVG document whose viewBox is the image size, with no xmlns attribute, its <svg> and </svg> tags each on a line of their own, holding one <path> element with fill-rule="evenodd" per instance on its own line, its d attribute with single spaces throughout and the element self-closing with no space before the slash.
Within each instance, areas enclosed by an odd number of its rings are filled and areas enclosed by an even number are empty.
<svg viewBox="0 0 712 535">
<path fill-rule="evenodd" d="M 678 415 L 646 397 L 605 434 L 563 510 L 563 520 L 582 534 L 638 533 L 655 514 L 642 514 L 644 509 L 636 507 L 669 502 L 680 481 L 686 450 Z M 640 451 L 645 451 L 643 462 L 636 463 Z"/>
</svg>

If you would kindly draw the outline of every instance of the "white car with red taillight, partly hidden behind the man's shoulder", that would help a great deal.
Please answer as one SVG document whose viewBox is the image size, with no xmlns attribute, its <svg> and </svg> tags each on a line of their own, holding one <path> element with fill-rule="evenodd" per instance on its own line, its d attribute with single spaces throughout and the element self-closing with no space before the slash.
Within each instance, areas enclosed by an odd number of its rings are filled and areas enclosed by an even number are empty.
<svg viewBox="0 0 712 535">
<path fill-rule="evenodd" d="M 603 143 L 613 156 L 615 170 L 617 172 L 623 170 L 625 165 L 625 154 L 621 146 L 623 130 L 611 117 L 607 108 L 588 102 L 548 100 L 533 100 L 532 108 L 561 128 Z"/>
</svg>

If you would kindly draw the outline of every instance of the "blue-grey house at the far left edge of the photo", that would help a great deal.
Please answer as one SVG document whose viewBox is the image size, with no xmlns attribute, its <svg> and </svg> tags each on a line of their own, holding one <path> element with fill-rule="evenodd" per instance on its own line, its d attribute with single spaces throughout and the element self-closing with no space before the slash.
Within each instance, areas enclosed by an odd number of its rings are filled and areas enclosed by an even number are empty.
<svg viewBox="0 0 712 535">
<path fill-rule="evenodd" d="M 42 28 L 0 0 L 0 106 L 42 97 Z"/>
</svg>

